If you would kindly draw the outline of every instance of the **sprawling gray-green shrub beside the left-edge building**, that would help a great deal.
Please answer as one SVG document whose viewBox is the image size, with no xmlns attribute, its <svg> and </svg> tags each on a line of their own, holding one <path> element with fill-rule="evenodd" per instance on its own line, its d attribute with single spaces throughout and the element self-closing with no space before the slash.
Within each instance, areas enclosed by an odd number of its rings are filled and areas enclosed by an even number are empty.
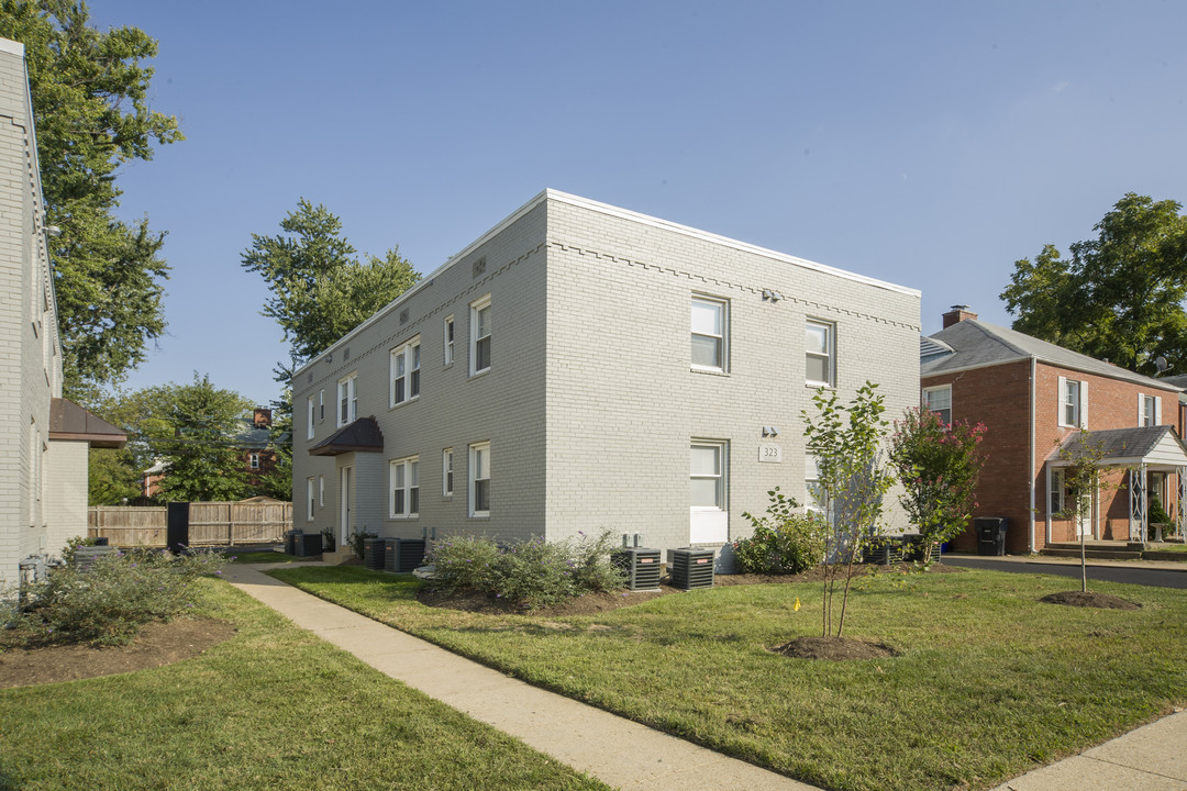
<svg viewBox="0 0 1187 791">
<path fill-rule="evenodd" d="M 122 644 L 144 624 L 169 620 L 193 606 L 195 581 L 220 574 L 217 551 L 132 550 L 100 555 L 87 569 L 52 569 L 28 592 L 28 606 L 9 623 L 8 644 Z"/>
</svg>

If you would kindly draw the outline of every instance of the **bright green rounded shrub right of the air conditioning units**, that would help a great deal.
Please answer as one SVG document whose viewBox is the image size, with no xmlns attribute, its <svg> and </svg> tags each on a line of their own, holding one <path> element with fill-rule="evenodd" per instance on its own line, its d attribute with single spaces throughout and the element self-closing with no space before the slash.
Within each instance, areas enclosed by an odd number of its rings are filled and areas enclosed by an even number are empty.
<svg viewBox="0 0 1187 791">
<path fill-rule="evenodd" d="M 767 492 L 770 505 L 764 516 L 749 512 L 749 538 L 734 542 L 737 568 L 743 574 L 799 574 L 824 561 L 827 523 L 818 513 L 794 513 L 799 504 L 779 492 Z"/>
</svg>

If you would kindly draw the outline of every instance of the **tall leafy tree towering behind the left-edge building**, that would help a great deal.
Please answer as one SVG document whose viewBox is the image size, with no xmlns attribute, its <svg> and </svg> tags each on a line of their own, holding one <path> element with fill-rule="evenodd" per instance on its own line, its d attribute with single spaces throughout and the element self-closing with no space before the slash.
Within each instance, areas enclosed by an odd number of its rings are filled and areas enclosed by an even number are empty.
<svg viewBox="0 0 1187 791">
<path fill-rule="evenodd" d="M 121 165 L 183 139 L 153 110 L 144 62 L 157 42 L 135 27 L 100 32 L 81 0 L 0 0 L 0 36 L 25 45 L 51 240 L 66 395 L 94 403 L 165 330 L 164 234 L 115 216 Z"/>
</svg>

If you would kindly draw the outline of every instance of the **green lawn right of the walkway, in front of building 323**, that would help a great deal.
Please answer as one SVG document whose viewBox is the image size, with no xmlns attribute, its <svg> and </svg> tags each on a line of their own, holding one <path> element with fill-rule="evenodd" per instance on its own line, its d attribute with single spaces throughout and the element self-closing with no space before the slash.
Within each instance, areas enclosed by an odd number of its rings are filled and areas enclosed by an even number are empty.
<svg viewBox="0 0 1187 791">
<path fill-rule="evenodd" d="M 992 787 L 1187 703 L 1180 591 L 1094 582 L 1143 605 L 1097 611 L 1040 604 L 1072 587 L 1053 576 L 883 576 L 851 598 L 846 633 L 901 656 L 827 663 L 768 651 L 819 633 L 819 585 L 718 587 L 597 617 L 534 619 L 421 606 L 407 575 L 272 574 L 532 683 L 829 789 Z"/>
</svg>

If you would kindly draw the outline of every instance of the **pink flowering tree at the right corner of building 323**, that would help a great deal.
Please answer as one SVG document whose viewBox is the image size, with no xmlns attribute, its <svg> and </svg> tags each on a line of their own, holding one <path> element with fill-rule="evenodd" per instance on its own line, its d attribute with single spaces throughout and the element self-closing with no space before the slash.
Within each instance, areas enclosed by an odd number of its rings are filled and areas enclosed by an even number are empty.
<svg viewBox="0 0 1187 791">
<path fill-rule="evenodd" d="M 945 423 L 928 409 L 908 409 L 895 421 L 890 461 L 903 487 L 899 502 L 923 536 L 925 564 L 935 542 L 956 537 L 977 506 L 984 436 L 984 423 Z"/>
</svg>

